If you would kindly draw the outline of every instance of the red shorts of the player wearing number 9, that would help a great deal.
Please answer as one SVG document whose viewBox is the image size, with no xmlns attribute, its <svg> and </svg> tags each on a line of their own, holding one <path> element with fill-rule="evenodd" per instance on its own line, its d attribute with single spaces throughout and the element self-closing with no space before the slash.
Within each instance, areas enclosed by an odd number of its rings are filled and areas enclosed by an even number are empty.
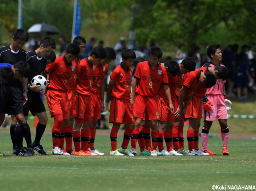
<svg viewBox="0 0 256 191">
<path fill-rule="evenodd" d="M 141 96 L 138 94 L 135 95 L 133 103 L 134 117 L 143 119 L 144 113 L 147 110 L 147 120 L 159 120 L 157 101 L 157 97 Z"/>
</svg>

